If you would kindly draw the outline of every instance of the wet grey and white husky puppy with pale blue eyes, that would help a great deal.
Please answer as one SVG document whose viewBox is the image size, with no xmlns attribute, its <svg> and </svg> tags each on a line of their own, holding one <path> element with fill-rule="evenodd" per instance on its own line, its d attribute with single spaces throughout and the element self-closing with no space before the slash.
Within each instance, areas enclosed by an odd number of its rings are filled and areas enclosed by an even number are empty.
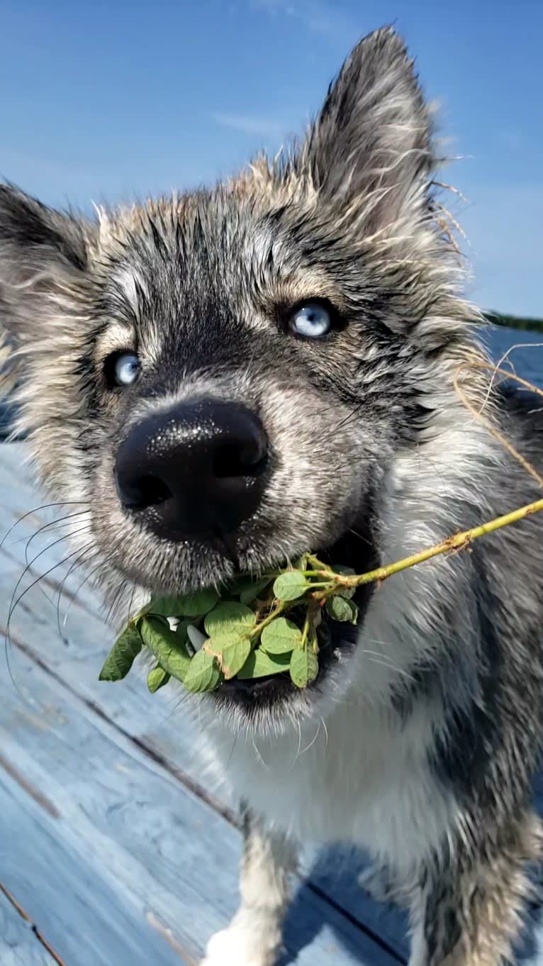
<svg viewBox="0 0 543 966">
<path fill-rule="evenodd" d="M 413 63 L 383 30 L 298 147 L 213 190 L 95 224 L 1 189 L 19 421 L 49 491 L 87 503 L 110 598 L 309 549 L 361 572 L 536 497 L 453 386 L 464 366 L 473 405 L 541 468 L 533 400 L 466 368 L 484 355 L 436 163 Z M 274 962 L 298 840 L 386 867 L 413 966 L 510 954 L 539 855 L 542 523 L 360 593 L 306 691 L 194 698 L 244 802 L 242 906 L 207 966 Z"/>
</svg>

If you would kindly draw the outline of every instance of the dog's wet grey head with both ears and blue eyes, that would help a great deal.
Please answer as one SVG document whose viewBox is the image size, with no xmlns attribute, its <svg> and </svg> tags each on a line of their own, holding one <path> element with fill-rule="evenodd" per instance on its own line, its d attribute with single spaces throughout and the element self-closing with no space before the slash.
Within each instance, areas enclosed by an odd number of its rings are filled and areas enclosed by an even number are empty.
<svg viewBox="0 0 543 966">
<path fill-rule="evenodd" d="M 463 338 L 432 164 L 413 66 L 382 31 L 272 167 L 96 224 L 1 188 L 21 423 L 45 483 L 84 504 L 110 593 L 307 550 L 374 562 L 386 472 Z M 332 663 L 304 696 L 273 680 L 218 699 L 306 709 Z"/>
</svg>

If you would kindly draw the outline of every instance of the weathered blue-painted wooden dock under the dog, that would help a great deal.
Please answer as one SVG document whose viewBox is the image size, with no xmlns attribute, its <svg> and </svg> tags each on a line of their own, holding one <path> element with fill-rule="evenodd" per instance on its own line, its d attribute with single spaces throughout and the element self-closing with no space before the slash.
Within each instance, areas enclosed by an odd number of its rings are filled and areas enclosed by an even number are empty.
<svg viewBox="0 0 543 966">
<path fill-rule="evenodd" d="M 97 598 L 51 570 L 63 528 L 38 510 L 24 443 L 0 445 L 0 635 L 16 589 L 0 677 L 2 966 L 197 966 L 238 903 L 241 836 L 202 777 L 195 732 L 172 691 L 143 674 L 97 678 L 111 643 Z M 43 554 L 41 553 L 43 551 Z M 64 551 L 65 553 L 65 551 Z M 41 554 L 37 556 L 37 554 Z M 68 611 L 65 620 L 65 614 Z M 59 619 L 60 613 L 60 619 Z M 357 887 L 361 859 L 309 856 L 280 966 L 406 962 L 406 923 Z M 523 962 L 537 952 L 538 910 Z M 543 949 L 543 946 L 542 946 Z"/>
</svg>

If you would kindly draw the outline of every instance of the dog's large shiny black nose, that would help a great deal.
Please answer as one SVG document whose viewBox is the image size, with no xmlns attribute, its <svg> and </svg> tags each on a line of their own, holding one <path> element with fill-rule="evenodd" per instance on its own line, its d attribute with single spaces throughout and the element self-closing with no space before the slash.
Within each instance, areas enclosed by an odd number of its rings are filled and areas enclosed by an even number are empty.
<svg viewBox="0 0 543 966">
<path fill-rule="evenodd" d="M 202 400 L 155 413 L 119 446 L 115 465 L 123 505 L 158 536 L 236 530 L 258 507 L 268 440 L 253 412 Z"/>
</svg>

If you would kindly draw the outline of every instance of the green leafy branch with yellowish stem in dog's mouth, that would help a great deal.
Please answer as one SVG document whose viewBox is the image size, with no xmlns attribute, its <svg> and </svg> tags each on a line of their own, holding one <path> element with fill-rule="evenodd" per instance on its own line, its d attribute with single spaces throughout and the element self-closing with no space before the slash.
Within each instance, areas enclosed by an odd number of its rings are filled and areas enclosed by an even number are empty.
<svg viewBox="0 0 543 966">
<path fill-rule="evenodd" d="M 478 537 L 543 510 L 536 500 L 486 524 L 456 533 L 434 547 L 365 574 L 329 567 L 305 554 L 292 567 L 258 579 L 241 577 L 222 588 L 151 601 L 129 620 L 100 672 L 102 681 L 126 677 L 143 648 L 156 666 L 147 679 L 155 693 L 170 678 L 187 691 L 214 691 L 224 681 L 290 674 L 305 688 L 319 672 L 327 621 L 357 623 L 357 587 L 383 582 L 439 554 L 458 552 Z"/>
</svg>

